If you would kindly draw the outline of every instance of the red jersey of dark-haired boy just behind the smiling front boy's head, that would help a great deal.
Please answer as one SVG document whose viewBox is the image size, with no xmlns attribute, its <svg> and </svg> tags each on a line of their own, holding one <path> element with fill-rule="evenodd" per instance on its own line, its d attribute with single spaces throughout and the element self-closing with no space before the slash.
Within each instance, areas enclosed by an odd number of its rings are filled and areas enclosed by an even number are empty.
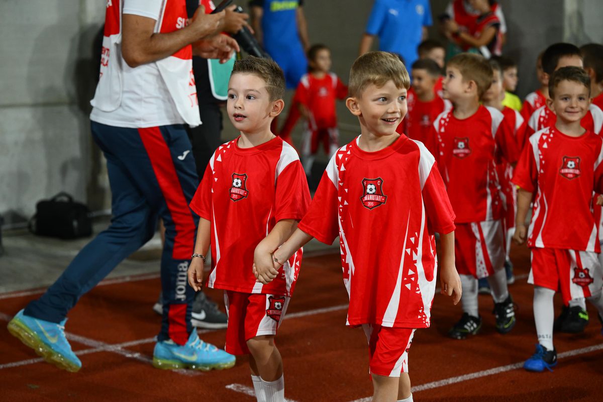
<svg viewBox="0 0 603 402">
<path fill-rule="evenodd" d="M 433 135 L 434 121 L 444 110 L 452 108 L 452 104 L 440 96 L 435 96 L 430 102 L 421 102 L 414 91 L 408 91 L 406 99 L 408 112 L 396 131 L 405 133 L 410 139 L 420 141 L 426 146 L 434 144 L 434 140 L 429 138 Z M 433 154 L 435 149 L 429 149 L 429 152 Z"/>
</svg>

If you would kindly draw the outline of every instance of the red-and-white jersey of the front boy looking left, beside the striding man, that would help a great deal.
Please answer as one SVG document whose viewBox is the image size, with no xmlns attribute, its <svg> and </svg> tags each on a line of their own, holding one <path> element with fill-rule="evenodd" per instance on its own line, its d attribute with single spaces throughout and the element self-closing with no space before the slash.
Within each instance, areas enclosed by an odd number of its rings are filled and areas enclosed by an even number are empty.
<svg viewBox="0 0 603 402">
<path fill-rule="evenodd" d="M 251 271 L 257 244 L 282 219 L 300 220 L 310 192 L 297 152 L 276 137 L 253 148 L 238 138 L 220 145 L 203 176 L 191 209 L 211 222 L 212 270 L 207 286 L 242 293 L 291 296 L 301 250 L 270 284 Z"/>
</svg>

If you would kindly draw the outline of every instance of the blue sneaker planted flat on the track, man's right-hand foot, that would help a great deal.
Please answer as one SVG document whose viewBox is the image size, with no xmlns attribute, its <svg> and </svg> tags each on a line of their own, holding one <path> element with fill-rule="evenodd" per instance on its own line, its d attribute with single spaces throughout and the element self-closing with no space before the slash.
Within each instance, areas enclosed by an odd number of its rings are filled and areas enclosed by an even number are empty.
<svg viewBox="0 0 603 402">
<path fill-rule="evenodd" d="M 196 330 L 191 332 L 189 340 L 182 346 L 169 339 L 157 342 L 153 351 L 153 366 L 162 369 L 222 370 L 233 367 L 235 362 L 232 354 L 201 341 Z"/>
</svg>

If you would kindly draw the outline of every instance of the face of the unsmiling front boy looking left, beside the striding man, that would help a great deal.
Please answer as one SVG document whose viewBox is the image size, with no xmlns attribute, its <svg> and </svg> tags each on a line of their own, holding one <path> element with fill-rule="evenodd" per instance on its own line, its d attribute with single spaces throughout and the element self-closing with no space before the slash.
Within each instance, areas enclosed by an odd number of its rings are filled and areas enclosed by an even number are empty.
<svg viewBox="0 0 603 402">
<path fill-rule="evenodd" d="M 270 123 L 282 109 L 282 99 L 270 100 L 262 78 L 243 73 L 230 77 L 226 110 L 237 130 L 248 134 L 270 131 Z"/>
</svg>

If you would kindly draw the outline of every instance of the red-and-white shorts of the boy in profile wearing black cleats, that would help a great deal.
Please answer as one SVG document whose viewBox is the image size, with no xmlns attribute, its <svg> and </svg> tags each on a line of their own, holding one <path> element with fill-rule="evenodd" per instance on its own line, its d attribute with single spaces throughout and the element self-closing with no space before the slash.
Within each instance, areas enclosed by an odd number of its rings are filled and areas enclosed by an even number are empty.
<svg viewBox="0 0 603 402">
<path fill-rule="evenodd" d="M 456 224 L 454 253 L 459 275 L 485 278 L 505 267 L 505 233 L 496 221 Z"/>
</svg>

